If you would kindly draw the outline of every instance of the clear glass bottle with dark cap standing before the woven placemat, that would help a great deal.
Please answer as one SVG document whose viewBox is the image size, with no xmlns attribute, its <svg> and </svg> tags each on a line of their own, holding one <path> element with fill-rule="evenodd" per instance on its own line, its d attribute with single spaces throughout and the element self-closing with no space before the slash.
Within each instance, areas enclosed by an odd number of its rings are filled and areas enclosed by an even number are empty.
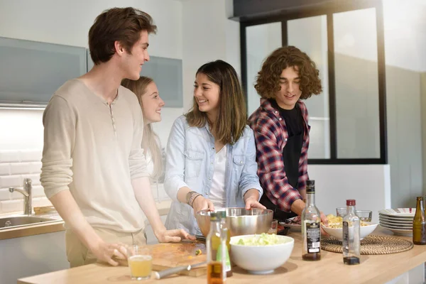
<svg viewBox="0 0 426 284">
<path fill-rule="evenodd" d="M 355 214 L 355 200 L 346 200 L 346 215 L 343 217 L 343 263 L 359 264 L 361 241 L 359 238 L 359 217 Z"/>
</svg>

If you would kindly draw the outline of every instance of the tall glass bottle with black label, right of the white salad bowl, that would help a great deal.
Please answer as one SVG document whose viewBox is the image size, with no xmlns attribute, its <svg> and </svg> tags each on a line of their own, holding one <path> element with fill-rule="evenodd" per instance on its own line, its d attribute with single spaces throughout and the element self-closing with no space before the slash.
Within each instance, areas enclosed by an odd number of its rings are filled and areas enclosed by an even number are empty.
<svg viewBox="0 0 426 284">
<path fill-rule="evenodd" d="M 306 204 L 302 211 L 302 259 L 321 259 L 321 217 L 315 206 L 315 180 L 306 182 Z"/>
</svg>

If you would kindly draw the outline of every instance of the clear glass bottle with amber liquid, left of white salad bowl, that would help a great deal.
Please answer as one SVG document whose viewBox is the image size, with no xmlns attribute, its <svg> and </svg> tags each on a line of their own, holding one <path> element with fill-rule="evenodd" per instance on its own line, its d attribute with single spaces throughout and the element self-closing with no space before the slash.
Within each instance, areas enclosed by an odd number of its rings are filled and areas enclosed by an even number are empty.
<svg viewBox="0 0 426 284">
<path fill-rule="evenodd" d="M 210 231 L 206 239 L 207 246 L 207 284 L 223 284 L 226 281 L 226 258 L 218 259 L 218 250 L 226 255 L 226 235 L 222 232 L 220 216 L 210 212 Z"/>
</svg>

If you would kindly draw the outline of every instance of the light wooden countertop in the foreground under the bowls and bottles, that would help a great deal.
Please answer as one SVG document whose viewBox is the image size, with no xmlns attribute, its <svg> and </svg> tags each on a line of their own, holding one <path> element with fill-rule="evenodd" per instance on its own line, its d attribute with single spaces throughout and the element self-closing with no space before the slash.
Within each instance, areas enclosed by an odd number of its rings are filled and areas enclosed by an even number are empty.
<svg viewBox="0 0 426 284">
<path fill-rule="evenodd" d="M 377 229 L 373 234 L 392 234 Z M 234 275 L 226 283 L 386 283 L 399 275 L 420 266 L 426 261 L 426 246 L 414 246 L 410 251 L 380 256 L 361 256 L 359 266 L 345 266 L 341 253 L 322 251 L 322 260 L 302 261 L 300 233 L 290 233 L 295 239 L 295 247 L 290 259 L 273 274 L 250 275 L 235 267 Z M 411 240 L 411 237 L 403 237 Z M 206 276 L 198 278 L 173 275 L 162 280 L 143 281 L 143 283 L 205 283 Z M 18 284 L 39 283 L 134 283 L 129 276 L 129 268 L 91 264 L 64 271 L 56 271 L 18 280 Z"/>
</svg>

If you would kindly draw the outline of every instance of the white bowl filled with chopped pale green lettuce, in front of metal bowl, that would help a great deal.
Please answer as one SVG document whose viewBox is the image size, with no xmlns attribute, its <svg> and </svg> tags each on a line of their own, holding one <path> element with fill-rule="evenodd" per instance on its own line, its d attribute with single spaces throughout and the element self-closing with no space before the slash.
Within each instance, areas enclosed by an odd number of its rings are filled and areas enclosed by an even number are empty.
<svg viewBox="0 0 426 284">
<path fill-rule="evenodd" d="M 295 240 L 290 236 L 254 234 L 231 237 L 231 259 L 252 274 L 273 273 L 290 258 Z"/>
</svg>

